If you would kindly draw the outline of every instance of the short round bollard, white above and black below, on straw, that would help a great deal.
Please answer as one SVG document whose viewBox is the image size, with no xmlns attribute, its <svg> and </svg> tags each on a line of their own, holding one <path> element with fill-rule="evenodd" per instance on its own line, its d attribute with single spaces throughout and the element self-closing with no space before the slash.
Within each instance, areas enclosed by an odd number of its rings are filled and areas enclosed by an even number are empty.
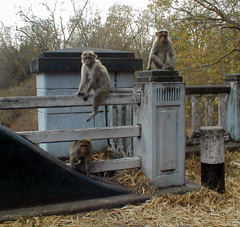
<svg viewBox="0 0 240 227">
<path fill-rule="evenodd" d="M 201 183 L 219 193 L 225 191 L 224 129 L 200 128 Z"/>
</svg>

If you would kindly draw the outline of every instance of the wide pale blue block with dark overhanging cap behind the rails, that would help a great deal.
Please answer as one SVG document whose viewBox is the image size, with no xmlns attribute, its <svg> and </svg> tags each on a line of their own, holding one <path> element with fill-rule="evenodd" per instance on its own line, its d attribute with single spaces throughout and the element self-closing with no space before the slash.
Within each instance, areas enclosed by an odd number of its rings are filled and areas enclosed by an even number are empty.
<svg viewBox="0 0 240 227">
<path fill-rule="evenodd" d="M 74 95 L 80 83 L 81 54 L 84 50 L 94 51 L 108 69 L 111 89 L 133 87 L 135 70 L 142 70 L 142 59 L 125 51 L 90 47 L 67 48 L 41 53 L 30 63 L 30 70 L 37 74 L 37 95 Z M 109 125 L 112 125 L 112 108 L 109 111 Z M 103 107 L 95 119 L 86 122 L 92 112 L 89 107 L 41 108 L 38 110 L 38 129 L 78 129 L 104 127 Z M 107 146 L 107 140 L 93 141 L 95 150 Z M 58 157 L 68 155 L 69 143 L 44 143 L 40 147 Z"/>
</svg>

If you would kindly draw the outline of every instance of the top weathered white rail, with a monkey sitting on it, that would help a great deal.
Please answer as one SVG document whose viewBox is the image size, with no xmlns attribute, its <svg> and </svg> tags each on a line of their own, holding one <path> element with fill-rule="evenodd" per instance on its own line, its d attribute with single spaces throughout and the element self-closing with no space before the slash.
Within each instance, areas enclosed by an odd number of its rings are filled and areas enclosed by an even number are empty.
<svg viewBox="0 0 240 227">
<path fill-rule="evenodd" d="M 27 108 L 45 108 L 45 107 L 74 107 L 91 106 L 93 96 L 87 101 L 77 96 L 22 96 L 22 97 L 1 97 L 0 109 L 27 109 Z M 140 95 L 133 93 L 110 94 L 102 105 L 124 105 L 139 104 Z"/>
</svg>

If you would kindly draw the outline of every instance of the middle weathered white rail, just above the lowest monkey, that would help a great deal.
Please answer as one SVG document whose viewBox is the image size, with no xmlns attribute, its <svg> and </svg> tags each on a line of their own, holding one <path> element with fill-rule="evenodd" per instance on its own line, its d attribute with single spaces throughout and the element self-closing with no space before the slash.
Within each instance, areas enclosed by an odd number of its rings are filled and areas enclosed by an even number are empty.
<svg viewBox="0 0 240 227">
<path fill-rule="evenodd" d="M 26 131 L 17 132 L 18 135 L 32 141 L 33 143 L 67 142 L 88 139 L 115 139 L 141 136 L 141 126 L 118 126 L 108 128 L 87 128 L 72 130 L 48 130 L 48 131 Z"/>
</svg>

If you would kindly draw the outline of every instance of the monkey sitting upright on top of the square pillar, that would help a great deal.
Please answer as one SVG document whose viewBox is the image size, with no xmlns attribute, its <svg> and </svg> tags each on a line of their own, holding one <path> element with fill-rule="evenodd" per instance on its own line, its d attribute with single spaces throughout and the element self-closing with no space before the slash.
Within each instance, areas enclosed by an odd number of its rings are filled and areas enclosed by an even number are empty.
<svg viewBox="0 0 240 227">
<path fill-rule="evenodd" d="M 176 57 L 167 30 L 156 32 L 156 40 L 150 51 L 147 70 L 151 69 L 152 62 L 158 69 L 174 70 Z"/>
</svg>

